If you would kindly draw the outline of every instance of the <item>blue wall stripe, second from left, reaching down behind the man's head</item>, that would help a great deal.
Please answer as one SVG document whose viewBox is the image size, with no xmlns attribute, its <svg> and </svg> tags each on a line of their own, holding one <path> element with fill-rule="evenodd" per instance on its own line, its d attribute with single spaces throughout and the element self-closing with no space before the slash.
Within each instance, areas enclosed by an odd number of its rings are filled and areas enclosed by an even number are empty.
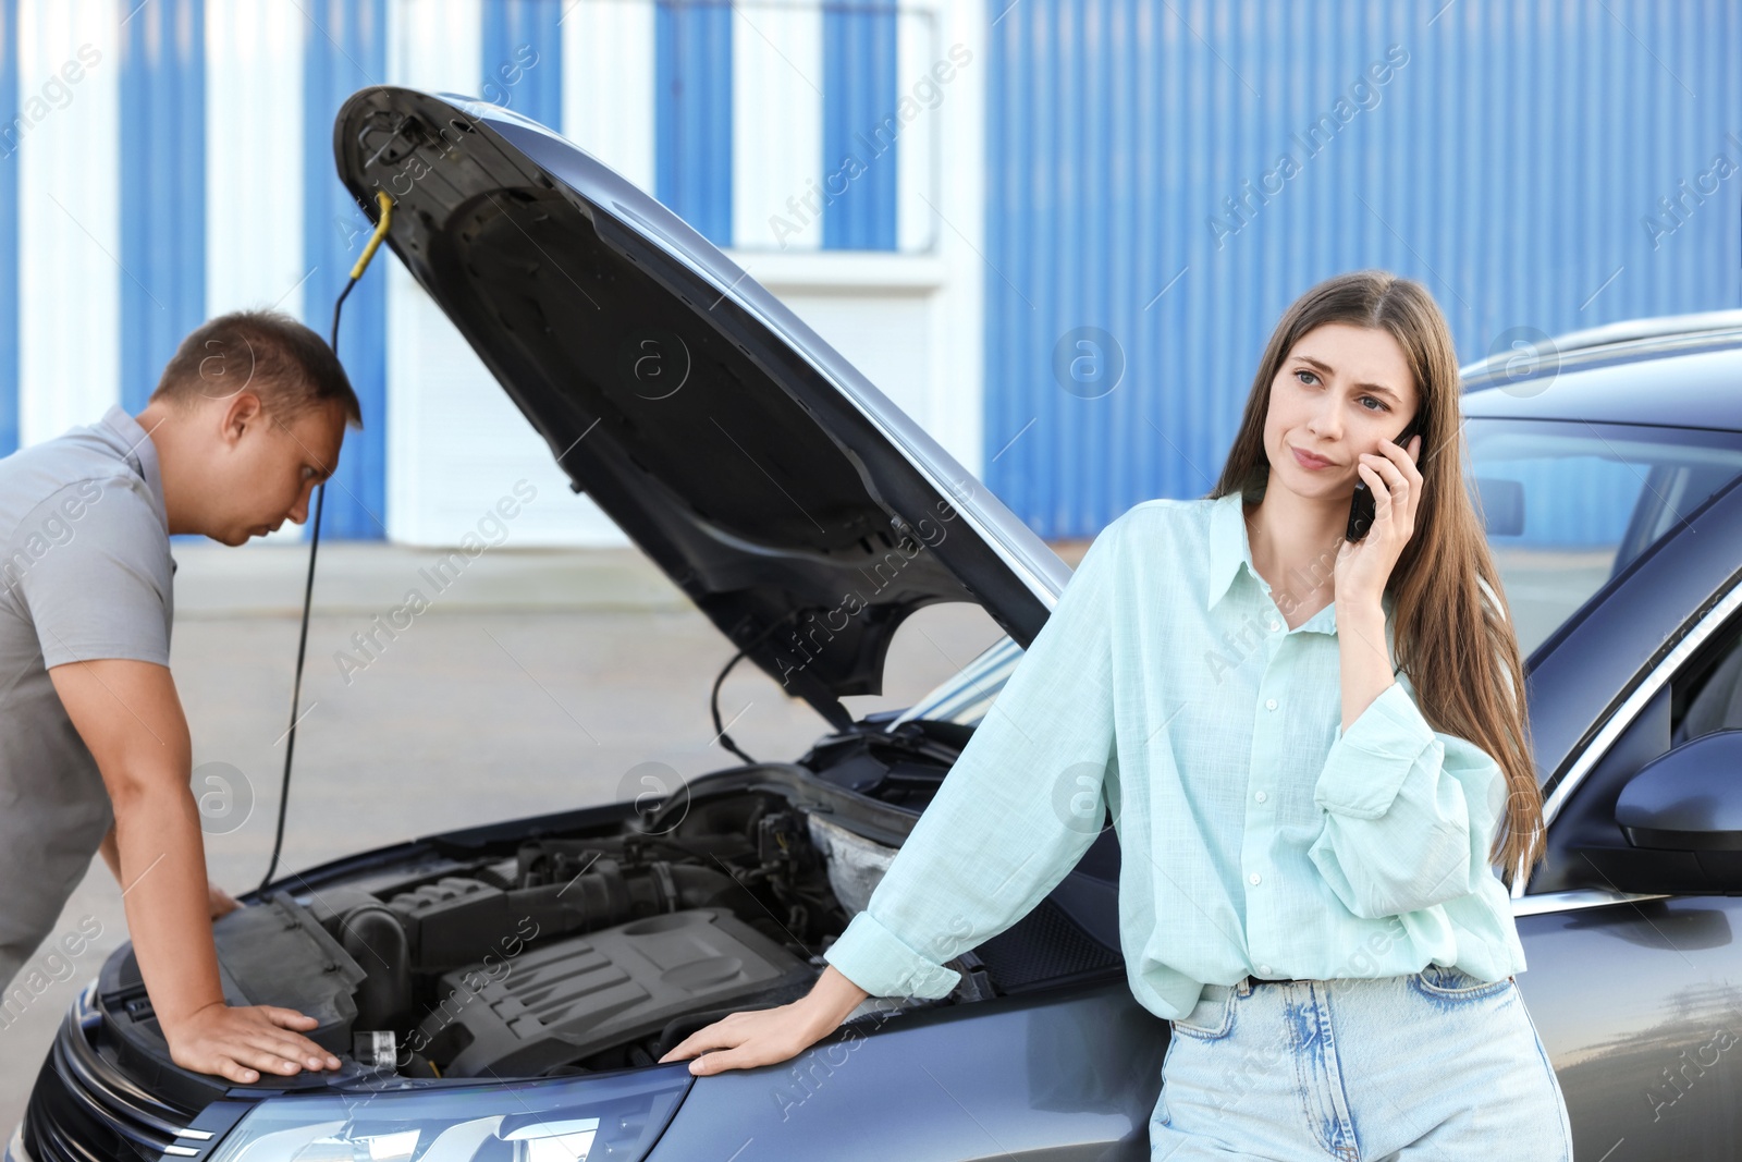
<svg viewBox="0 0 1742 1162">
<path fill-rule="evenodd" d="M 120 61 L 120 402 L 139 411 L 206 319 L 206 3 L 125 16 Z"/>
</svg>

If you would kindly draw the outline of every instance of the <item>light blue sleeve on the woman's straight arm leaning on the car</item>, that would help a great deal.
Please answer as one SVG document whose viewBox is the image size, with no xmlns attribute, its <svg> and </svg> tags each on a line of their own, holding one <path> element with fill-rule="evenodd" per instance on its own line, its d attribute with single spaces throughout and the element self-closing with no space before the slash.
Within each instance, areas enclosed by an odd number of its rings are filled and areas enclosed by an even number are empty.
<svg viewBox="0 0 1742 1162">
<path fill-rule="evenodd" d="M 1117 803 L 1113 601 L 1124 517 L 1089 547 L 1057 606 L 920 815 L 824 951 L 871 996 L 946 996 L 944 962 L 1028 915 Z"/>
</svg>

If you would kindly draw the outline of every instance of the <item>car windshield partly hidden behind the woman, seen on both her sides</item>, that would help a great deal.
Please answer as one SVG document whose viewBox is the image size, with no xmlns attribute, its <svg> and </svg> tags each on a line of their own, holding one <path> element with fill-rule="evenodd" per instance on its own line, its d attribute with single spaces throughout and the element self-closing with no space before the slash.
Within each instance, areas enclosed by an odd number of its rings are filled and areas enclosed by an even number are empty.
<svg viewBox="0 0 1742 1162">
<path fill-rule="evenodd" d="M 1742 434 L 1570 420 L 1465 422 L 1472 495 L 1529 655 L 1629 563 L 1742 476 Z M 1000 638 L 890 728 L 977 725 L 1023 650 Z"/>
</svg>

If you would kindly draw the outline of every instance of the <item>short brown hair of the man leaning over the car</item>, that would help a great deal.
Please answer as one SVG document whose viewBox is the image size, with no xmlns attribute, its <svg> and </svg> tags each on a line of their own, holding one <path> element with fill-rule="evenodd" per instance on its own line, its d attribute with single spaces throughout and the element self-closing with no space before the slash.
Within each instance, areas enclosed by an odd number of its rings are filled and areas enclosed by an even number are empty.
<svg viewBox="0 0 1742 1162">
<path fill-rule="evenodd" d="M 242 388 L 282 416 L 338 402 L 350 427 L 362 427 L 362 406 L 345 368 L 326 340 L 279 310 L 233 310 L 188 333 L 164 364 L 152 399 L 188 404 L 223 399 Z"/>
</svg>

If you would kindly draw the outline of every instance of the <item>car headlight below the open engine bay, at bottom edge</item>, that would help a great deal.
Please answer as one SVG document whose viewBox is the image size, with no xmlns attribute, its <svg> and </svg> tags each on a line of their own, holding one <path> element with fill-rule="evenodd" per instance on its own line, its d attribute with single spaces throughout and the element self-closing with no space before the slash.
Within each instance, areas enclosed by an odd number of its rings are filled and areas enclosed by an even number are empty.
<svg viewBox="0 0 1742 1162">
<path fill-rule="evenodd" d="M 692 1080 L 685 1064 L 563 1082 L 270 1098 L 211 1162 L 638 1162 Z"/>
</svg>

